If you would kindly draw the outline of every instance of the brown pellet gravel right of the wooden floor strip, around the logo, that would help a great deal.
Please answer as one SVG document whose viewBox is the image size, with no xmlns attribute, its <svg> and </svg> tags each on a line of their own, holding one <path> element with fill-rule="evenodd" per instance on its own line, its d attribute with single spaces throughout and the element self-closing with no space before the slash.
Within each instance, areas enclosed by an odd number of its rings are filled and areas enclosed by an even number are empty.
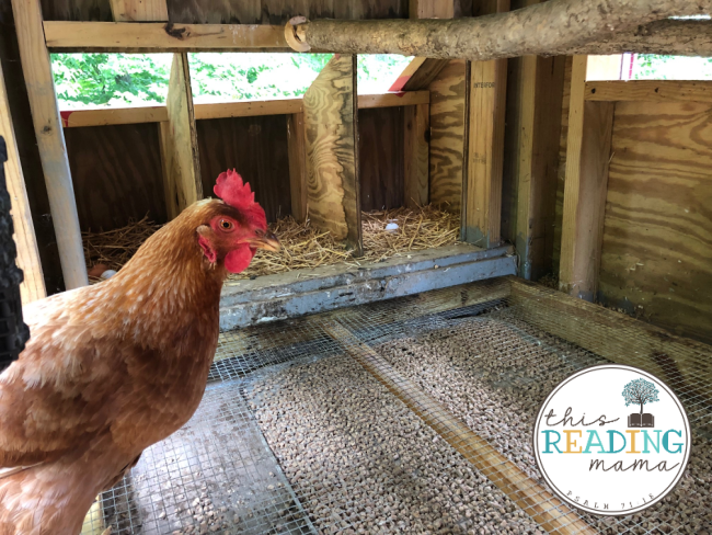
<svg viewBox="0 0 712 535">
<path fill-rule="evenodd" d="M 575 369 L 600 362 L 516 319 L 459 320 L 374 349 L 540 482 L 530 445 L 539 407 Z M 710 442 L 694 436 L 686 475 L 651 510 L 623 519 L 582 517 L 601 533 L 712 533 Z"/>
</svg>

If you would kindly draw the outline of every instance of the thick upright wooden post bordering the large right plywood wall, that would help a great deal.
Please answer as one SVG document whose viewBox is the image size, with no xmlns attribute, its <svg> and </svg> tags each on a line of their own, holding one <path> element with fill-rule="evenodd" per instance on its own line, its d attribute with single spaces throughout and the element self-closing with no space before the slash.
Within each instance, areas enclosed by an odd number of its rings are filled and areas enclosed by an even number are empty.
<svg viewBox="0 0 712 535">
<path fill-rule="evenodd" d="M 585 101 L 586 56 L 573 62 L 560 289 L 594 300 L 598 287 L 613 127 L 611 102 Z"/>
</svg>

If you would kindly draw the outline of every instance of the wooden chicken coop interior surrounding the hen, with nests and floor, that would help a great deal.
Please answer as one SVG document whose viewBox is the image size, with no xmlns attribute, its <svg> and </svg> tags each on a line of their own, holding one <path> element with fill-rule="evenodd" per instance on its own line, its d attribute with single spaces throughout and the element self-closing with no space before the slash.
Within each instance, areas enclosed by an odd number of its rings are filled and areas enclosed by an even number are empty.
<svg viewBox="0 0 712 535">
<path fill-rule="evenodd" d="M 197 412 L 82 535 L 712 533 L 712 78 L 623 76 L 712 57 L 710 5 L 569 48 L 437 41 L 567 1 L 0 0 L 23 304 L 102 284 L 226 169 L 283 243 L 228 277 Z M 303 94 L 199 102 L 205 52 L 333 57 Z M 165 102 L 62 109 L 57 53 L 170 55 Z M 358 57 L 397 53 L 359 90 Z M 552 388 L 601 363 L 692 428 L 680 483 L 628 516 L 559 500 L 531 449 Z"/>
</svg>

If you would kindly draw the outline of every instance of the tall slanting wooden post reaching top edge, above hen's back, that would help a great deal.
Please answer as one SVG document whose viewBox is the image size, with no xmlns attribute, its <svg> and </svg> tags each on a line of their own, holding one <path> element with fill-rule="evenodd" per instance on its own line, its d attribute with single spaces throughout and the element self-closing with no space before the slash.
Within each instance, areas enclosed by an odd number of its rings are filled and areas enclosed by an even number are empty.
<svg viewBox="0 0 712 535">
<path fill-rule="evenodd" d="M 39 0 L 12 0 L 12 11 L 65 286 L 78 288 L 89 280 Z"/>
</svg>

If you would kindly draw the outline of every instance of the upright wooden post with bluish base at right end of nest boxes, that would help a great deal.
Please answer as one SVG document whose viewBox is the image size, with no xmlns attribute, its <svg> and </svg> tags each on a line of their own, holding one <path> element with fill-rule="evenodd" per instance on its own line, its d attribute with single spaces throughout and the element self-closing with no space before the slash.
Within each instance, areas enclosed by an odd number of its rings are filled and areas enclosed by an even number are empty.
<svg viewBox="0 0 712 535">
<path fill-rule="evenodd" d="M 496 12 L 509 10 L 497 0 Z M 483 248 L 502 242 L 502 172 L 507 60 L 475 61 L 470 68 L 467 173 L 462 187 L 462 236 Z"/>
</svg>

